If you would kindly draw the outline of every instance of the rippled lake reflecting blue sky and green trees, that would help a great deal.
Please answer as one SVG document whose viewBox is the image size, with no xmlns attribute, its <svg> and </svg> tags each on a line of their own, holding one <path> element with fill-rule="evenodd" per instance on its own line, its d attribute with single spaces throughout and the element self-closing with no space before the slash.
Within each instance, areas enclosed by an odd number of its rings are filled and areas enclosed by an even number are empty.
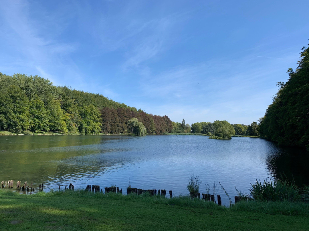
<svg viewBox="0 0 309 231">
<path fill-rule="evenodd" d="M 36 189 L 44 182 L 44 191 L 73 183 L 75 189 L 95 184 L 104 191 L 116 185 L 126 192 L 130 180 L 131 187 L 186 195 L 194 174 L 202 181 L 201 193 L 205 184 L 217 185 L 222 204 L 228 204 L 219 182 L 233 202 L 235 186 L 247 193 L 255 179 L 286 175 L 299 186 L 309 184 L 308 154 L 249 137 L 1 136 L 0 181 L 14 180 L 14 186 L 32 181 Z"/>
</svg>

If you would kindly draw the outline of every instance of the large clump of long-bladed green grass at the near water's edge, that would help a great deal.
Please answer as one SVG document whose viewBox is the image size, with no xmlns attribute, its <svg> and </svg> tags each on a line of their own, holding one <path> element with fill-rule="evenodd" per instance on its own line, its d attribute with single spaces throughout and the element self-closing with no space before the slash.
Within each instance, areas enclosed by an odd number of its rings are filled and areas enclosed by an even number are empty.
<svg viewBox="0 0 309 231">
<path fill-rule="evenodd" d="M 264 182 L 256 180 L 249 189 L 254 200 L 261 201 L 299 201 L 298 187 L 289 180 L 264 179 Z"/>
</svg>

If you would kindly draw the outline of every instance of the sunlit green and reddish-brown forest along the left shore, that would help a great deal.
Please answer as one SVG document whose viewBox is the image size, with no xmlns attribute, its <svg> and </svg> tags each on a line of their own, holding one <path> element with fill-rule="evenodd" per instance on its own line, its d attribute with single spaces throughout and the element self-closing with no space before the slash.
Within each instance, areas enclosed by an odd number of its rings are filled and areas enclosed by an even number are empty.
<svg viewBox="0 0 309 231">
<path fill-rule="evenodd" d="M 167 115 L 151 115 L 101 94 L 53 86 L 39 76 L 0 73 L 0 130 L 15 133 L 130 133 L 136 118 L 148 134 L 171 132 Z M 144 132 L 144 130 L 143 130 Z"/>
</svg>

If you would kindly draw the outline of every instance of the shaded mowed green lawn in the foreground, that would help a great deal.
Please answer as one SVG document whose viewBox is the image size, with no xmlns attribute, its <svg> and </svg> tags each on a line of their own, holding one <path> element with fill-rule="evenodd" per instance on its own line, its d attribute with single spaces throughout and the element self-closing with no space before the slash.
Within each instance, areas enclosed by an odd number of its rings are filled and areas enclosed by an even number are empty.
<svg viewBox="0 0 309 231">
<path fill-rule="evenodd" d="M 2 230 L 309 230 L 301 216 L 225 208 L 175 197 L 60 191 L 18 195 L 0 190 Z"/>
</svg>

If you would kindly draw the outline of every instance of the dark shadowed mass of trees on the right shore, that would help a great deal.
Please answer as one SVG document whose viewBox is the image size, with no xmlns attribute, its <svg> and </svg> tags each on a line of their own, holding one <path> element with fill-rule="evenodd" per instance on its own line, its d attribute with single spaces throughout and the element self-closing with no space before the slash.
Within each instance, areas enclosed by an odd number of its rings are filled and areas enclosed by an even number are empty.
<svg viewBox="0 0 309 231">
<path fill-rule="evenodd" d="M 309 149 L 309 44 L 297 63 L 286 83 L 277 82 L 280 89 L 260 119 L 260 133 L 279 145 Z"/>
</svg>

